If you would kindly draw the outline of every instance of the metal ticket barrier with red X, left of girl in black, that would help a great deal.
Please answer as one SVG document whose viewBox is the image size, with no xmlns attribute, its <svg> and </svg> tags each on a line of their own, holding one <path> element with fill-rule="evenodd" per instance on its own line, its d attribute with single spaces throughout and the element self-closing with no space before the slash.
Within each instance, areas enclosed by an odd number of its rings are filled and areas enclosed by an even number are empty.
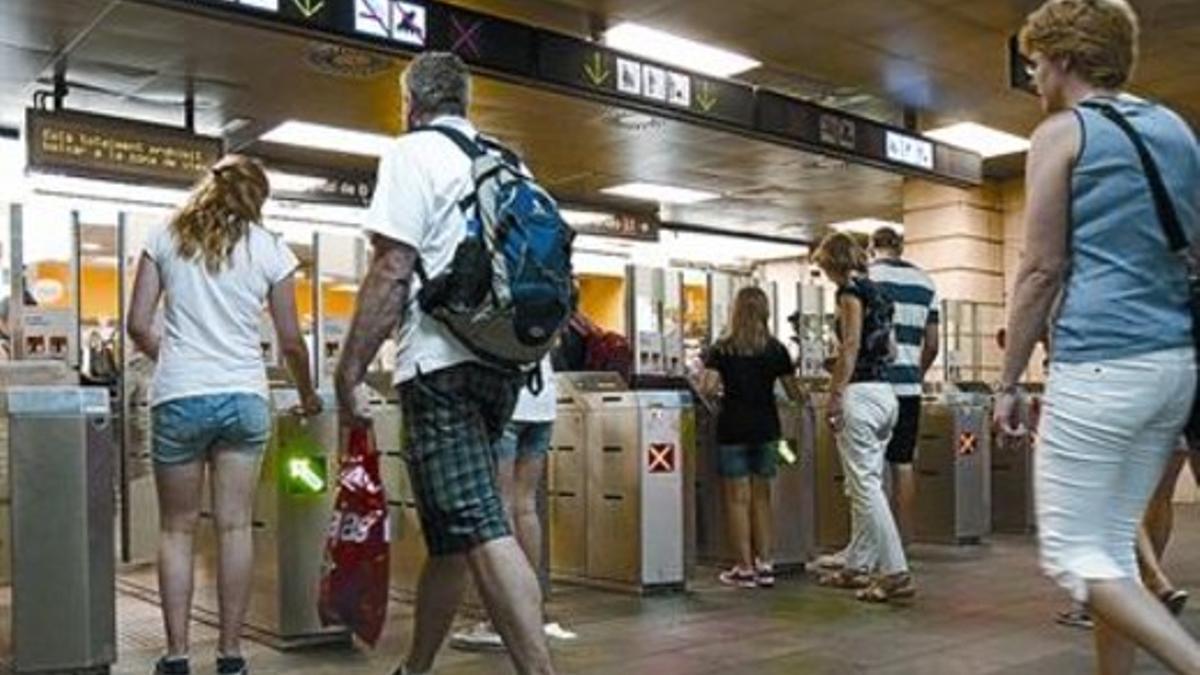
<svg viewBox="0 0 1200 675">
<path fill-rule="evenodd" d="M 614 590 L 683 589 L 691 395 L 630 392 L 616 374 L 560 375 L 559 394 L 577 408 L 560 408 L 571 422 L 551 453 L 551 572 Z"/>
</svg>

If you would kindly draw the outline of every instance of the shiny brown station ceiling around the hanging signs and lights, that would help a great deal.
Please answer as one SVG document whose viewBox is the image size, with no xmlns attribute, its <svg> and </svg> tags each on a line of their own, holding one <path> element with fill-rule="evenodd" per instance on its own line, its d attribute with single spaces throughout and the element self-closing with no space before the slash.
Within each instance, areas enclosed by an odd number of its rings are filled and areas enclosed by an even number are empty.
<svg viewBox="0 0 1200 675">
<path fill-rule="evenodd" d="M 973 120 L 1028 133 L 1037 102 L 1006 89 L 1006 41 L 1034 0 L 464 0 L 472 8 L 588 35 L 638 20 L 764 62 L 742 79 L 896 123 Z M 1146 49 L 1136 89 L 1200 120 L 1200 2 L 1141 0 Z M 335 58 L 336 56 L 336 58 Z M 170 11 L 136 0 L 0 1 L 0 126 L 19 127 L 62 66 L 68 108 L 197 126 L 282 160 L 372 168 L 350 156 L 257 143 L 286 119 L 395 133 L 403 60 Z M 642 180 L 722 198 L 671 220 L 799 238 L 814 226 L 900 216 L 902 179 L 730 132 L 479 78 L 473 114 L 520 149 L 562 198 Z"/>
</svg>

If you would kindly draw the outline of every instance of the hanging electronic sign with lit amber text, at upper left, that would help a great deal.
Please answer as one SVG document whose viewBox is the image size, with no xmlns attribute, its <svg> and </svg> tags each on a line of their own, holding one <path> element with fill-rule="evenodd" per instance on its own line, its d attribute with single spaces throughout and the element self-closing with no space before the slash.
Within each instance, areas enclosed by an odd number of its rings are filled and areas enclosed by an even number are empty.
<svg viewBox="0 0 1200 675">
<path fill-rule="evenodd" d="M 103 180 L 185 186 L 223 153 L 220 138 L 74 110 L 25 113 L 29 168 Z"/>
</svg>

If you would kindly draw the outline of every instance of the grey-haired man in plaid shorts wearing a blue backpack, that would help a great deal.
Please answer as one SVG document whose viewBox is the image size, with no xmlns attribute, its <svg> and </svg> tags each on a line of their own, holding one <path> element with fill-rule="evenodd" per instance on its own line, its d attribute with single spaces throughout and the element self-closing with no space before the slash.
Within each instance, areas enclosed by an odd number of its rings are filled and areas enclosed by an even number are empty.
<svg viewBox="0 0 1200 675">
<path fill-rule="evenodd" d="M 492 448 L 570 317 L 570 231 L 520 160 L 467 121 L 462 60 L 422 54 L 402 83 L 409 133 L 379 162 L 374 253 L 336 374 L 343 424 L 370 424 L 354 389 L 400 324 L 403 447 L 430 558 L 396 673 L 432 669 L 470 574 L 517 671 L 550 674 L 541 591 Z"/>
</svg>

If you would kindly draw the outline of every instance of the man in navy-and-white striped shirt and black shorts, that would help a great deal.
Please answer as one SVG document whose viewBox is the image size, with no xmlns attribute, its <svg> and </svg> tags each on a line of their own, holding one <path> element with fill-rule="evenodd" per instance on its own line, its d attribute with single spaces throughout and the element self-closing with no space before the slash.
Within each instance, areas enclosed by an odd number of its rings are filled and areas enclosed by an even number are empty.
<svg viewBox="0 0 1200 675">
<path fill-rule="evenodd" d="M 938 351 L 938 300 L 934 281 L 917 265 L 902 259 L 904 238 L 890 227 L 871 235 L 871 280 L 895 304 L 896 358 L 888 372 L 900 418 L 888 446 L 892 478 L 892 510 L 907 542 L 913 533 L 916 477 L 912 460 L 920 429 L 920 394 L 925 372 Z"/>
</svg>

